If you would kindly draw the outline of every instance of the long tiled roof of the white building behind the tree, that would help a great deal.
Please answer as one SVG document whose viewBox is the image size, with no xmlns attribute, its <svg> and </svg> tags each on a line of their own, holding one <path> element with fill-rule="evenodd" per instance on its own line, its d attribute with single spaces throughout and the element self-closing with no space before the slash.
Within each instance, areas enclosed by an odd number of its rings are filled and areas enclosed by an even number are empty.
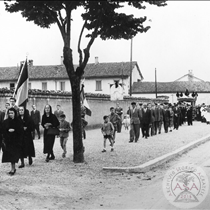
<svg viewBox="0 0 210 210">
<path fill-rule="evenodd" d="M 132 62 L 132 68 L 137 65 L 137 62 Z M 76 65 L 75 65 L 76 67 Z M 17 80 L 20 67 L 0 67 L 0 81 Z M 141 75 L 141 72 L 139 70 Z M 115 63 L 92 63 L 87 64 L 85 68 L 85 78 L 97 77 L 114 77 L 130 75 L 130 62 L 115 62 Z M 142 75 L 141 75 L 142 76 Z M 64 65 L 51 65 L 51 66 L 29 66 L 29 79 L 67 79 L 68 75 Z"/>
</svg>

